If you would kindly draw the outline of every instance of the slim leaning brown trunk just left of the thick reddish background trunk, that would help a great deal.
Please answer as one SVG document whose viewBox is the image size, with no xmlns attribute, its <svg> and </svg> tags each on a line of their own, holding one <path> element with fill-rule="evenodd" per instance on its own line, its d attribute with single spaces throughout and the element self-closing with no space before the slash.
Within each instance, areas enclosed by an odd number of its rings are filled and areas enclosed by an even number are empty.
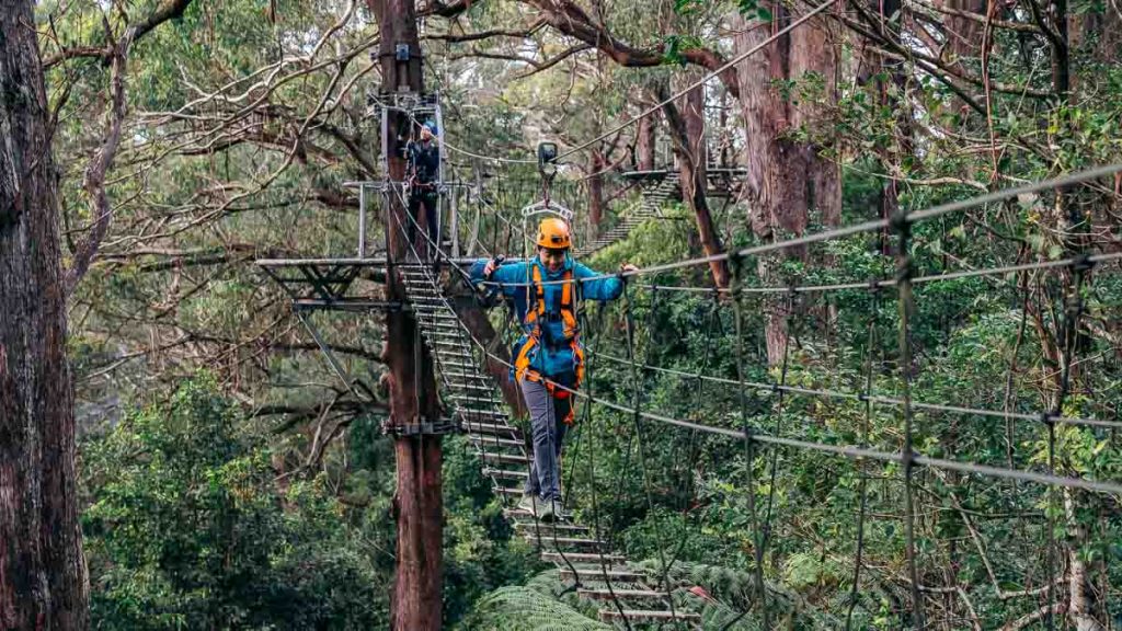
<svg viewBox="0 0 1122 631">
<path fill-rule="evenodd" d="M 659 100 L 669 97 L 665 85 L 659 88 Z M 679 180 L 682 185 L 682 201 L 693 211 L 697 220 L 698 237 L 706 256 L 715 256 L 725 252 L 720 243 L 720 234 L 712 221 L 709 201 L 706 196 L 706 136 L 705 136 L 705 90 L 697 89 L 682 98 L 682 109 L 673 103 L 666 103 L 663 112 L 670 127 L 670 137 L 678 156 Z M 709 272 L 716 286 L 728 287 L 729 272 L 726 260 L 709 263 Z"/>
</svg>

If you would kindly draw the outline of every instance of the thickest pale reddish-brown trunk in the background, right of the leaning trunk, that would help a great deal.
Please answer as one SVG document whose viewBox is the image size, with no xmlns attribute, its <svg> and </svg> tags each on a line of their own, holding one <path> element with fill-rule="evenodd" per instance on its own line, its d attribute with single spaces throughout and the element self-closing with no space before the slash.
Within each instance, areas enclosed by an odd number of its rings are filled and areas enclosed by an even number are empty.
<svg viewBox="0 0 1122 631">
<path fill-rule="evenodd" d="M 739 15 L 732 19 L 734 53 L 739 55 L 769 38 L 773 31 L 791 22 L 791 13 L 780 3 L 771 6 L 772 31 L 749 25 Z M 822 158 L 818 147 L 789 137 L 794 127 L 812 122 L 819 108 L 792 95 L 784 99 L 775 90 L 776 82 L 799 82 L 808 72 L 825 80 L 826 104 L 836 100 L 837 53 L 820 19 L 794 29 L 751 55 L 737 67 L 741 110 L 744 116 L 746 143 L 744 165 L 747 170 L 742 195 L 747 202 L 752 229 L 764 241 L 778 241 L 806 232 L 812 216 L 825 226 L 835 226 L 840 217 L 842 186 L 837 165 Z M 798 104 L 795 104 L 798 102 Z M 780 256 L 807 259 L 804 248 L 792 248 Z M 761 257 L 757 273 L 765 284 L 782 282 L 775 269 L 775 257 Z M 778 365 L 787 338 L 787 314 L 778 302 L 769 304 L 765 337 L 767 360 Z"/>
</svg>

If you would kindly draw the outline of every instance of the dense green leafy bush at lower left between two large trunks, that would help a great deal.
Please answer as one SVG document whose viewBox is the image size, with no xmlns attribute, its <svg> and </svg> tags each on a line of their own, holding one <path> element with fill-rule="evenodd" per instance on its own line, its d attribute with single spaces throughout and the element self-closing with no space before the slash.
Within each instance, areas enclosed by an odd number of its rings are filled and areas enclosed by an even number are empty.
<svg viewBox="0 0 1122 631">
<path fill-rule="evenodd" d="M 269 451 L 206 378 L 83 446 L 99 629 L 368 629 L 378 575 L 319 481 L 278 488 Z"/>
</svg>

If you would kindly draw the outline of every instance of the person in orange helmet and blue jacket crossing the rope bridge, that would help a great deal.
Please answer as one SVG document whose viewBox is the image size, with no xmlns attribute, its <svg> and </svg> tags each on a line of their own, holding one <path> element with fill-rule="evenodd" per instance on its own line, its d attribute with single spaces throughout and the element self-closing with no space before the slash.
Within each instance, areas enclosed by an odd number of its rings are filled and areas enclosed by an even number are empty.
<svg viewBox="0 0 1122 631">
<path fill-rule="evenodd" d="M 585 375 L 585 350 L 578 339 L 580 300 L 608 301 L 623 294 L 619 277 L 603 277 L 570 256 L 572 236 L 562 219 L 549 218 L 537 230 L 537 256 L 502 265 L 479 259 L 471 266 L 473 281 L 490 280 L 512 300 L 523 335 L 511 349 L 512 377 L 518 382 L 530 410 L 534 459 L 518 507 L 542 520 L 561 514 L 561 443 L 574 419 L 569 391 Z M 634 265 L 624 265 L 634 271 Z M 592 276 L 601 276 L 582 281 Z M 513 284 L 511 286 L 509 284 Z"/>
</svg>

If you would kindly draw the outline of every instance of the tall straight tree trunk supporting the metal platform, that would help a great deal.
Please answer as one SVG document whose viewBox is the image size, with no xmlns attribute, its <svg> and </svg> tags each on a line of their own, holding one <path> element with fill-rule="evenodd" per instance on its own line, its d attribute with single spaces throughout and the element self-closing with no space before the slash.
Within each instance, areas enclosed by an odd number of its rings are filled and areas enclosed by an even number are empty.
<svg viewBox="0 0 1122 631">
<path fill-rule="evenodd" d="M 421 46 L 417 39 L 416 9 L 413 0 L 369 0 L 378 21 L 383 90 L 408 90 L 420 93 Z M 395 51 L 407 45 L 410 60 L 398 62 Z M 405 179 L 401 138 L 408 137 L 410 120 L 392 112 L 385 138 L 389 179 Z M 395 263 L 407 259 L 406 235 L 401 228 L 408 221 L 397 195 L 388 195 L 385 211 L 388 225 L 388 255 Z M 386 298 L 405 302 L 405 289 L 397 274 L 386 275 Z M 440 415 L 433 363 L 424 345 L 419 344 L 416 320 L 411 312 L 386 314 L 385 360 L 389 367 L 389 418 L 395 426 L 435 421 Z M 394 579 L 393 625 L 398 631 L 440 629 L 441 622 L 441 440 L 439 436 L 399 436 L 397 456 L 397 574 Z"/>
</svg>

